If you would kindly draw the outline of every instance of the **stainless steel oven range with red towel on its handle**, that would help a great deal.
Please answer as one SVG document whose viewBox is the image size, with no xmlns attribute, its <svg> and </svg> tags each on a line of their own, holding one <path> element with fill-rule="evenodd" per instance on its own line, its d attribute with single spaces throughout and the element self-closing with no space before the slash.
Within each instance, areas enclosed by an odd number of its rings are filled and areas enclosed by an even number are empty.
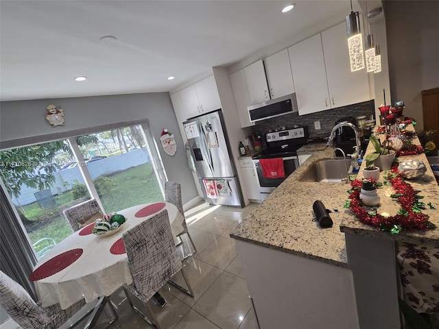
<svg viewBox="0 0 439 329">
<path fill-rule="evenodd" d="M 280 130 L 278 132 L 268 132 L 265 134 L 265 141 L 267 148 L 252 156 L 252 160 L 257 170 L 259 180 L 259 192 L 261 199 L 264 200 L 274 188 L 279 186 L 285 178 L 287 178 L 297 167 L 299 167 L 297 149 L 307 144 L 308 132 L 307 127 L 297 127 L 292 129 Z M 285 175 L 279 177 L 272 177 L 263 172 L 263 166 L 260 163 L 261 159 L 282 159 L 283 171 Z M 280 163 L 280 160 L 274 160 Z M 274 162 L 274 163 L 275 163 Z M 265 161 L 267 163 L 267 161 Z M 270 163 L 270 162 L 269 162 Z M 283 176 L 283 177 L 281 177 Z"/>
</svg>

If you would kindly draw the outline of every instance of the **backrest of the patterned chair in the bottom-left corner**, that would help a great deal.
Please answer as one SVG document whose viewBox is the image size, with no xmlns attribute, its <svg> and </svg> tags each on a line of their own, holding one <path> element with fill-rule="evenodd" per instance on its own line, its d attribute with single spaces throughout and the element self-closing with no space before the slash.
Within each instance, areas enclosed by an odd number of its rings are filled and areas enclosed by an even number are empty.
<svg viewBox="0 0 439 329">
<path fill-rule="evenodd" d="M 43 312 L 21 284 L 0 271 L 0 300 L 8 315 L 24 329 L 43 328 Z"/>
</svg>

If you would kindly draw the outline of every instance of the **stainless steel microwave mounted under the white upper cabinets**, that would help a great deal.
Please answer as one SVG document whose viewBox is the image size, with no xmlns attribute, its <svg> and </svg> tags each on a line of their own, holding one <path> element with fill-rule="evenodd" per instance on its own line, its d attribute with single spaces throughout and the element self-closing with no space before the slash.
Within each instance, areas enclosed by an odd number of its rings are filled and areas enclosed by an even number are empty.
<svg viewBox="0 0 439 329">
<path fill-rule="evenodd" d="M 263 101 L 259 104 L 248 106 L 250 121 L 261 121 L 281 115 L 298 112 L 296 94 L 289 94 L 283 97 Z"/>
</svg>

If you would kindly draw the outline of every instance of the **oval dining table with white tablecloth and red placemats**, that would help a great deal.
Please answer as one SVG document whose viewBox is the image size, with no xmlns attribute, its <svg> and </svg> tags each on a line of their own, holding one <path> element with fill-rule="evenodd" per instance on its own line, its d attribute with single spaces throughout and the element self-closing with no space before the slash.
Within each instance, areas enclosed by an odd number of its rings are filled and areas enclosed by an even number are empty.
<svg viewBox="0 0 439 329">
<path fill-rule="evenodd" d="M 163 209 L 168 212 L 172 235 L 178 241 L 183 215 L 174 204 L 154 202 L 117 211 L 126 222 L 114 234 L 93 234 L 95 223 L 91 223 L 58 243 L 38 261 L 30 276 L 41 306 L 60 304 L 67 309 L 80 300 L 93 302 L 132 283 L 122 235 Z"/>
</svg>

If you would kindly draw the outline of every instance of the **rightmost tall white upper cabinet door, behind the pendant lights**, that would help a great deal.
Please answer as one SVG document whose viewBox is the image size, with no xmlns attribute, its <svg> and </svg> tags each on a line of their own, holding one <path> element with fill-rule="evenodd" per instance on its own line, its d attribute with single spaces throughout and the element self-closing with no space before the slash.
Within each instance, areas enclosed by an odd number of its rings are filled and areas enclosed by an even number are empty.
<svg viewBox="0 0 439 329">
<path fill-rule="evenodd" d="M 346 24 L 322 32 L 322 46 L 331 108 L 368 101 L 370 91 L 366 69 L 351 72 Z"/>
</svg>

